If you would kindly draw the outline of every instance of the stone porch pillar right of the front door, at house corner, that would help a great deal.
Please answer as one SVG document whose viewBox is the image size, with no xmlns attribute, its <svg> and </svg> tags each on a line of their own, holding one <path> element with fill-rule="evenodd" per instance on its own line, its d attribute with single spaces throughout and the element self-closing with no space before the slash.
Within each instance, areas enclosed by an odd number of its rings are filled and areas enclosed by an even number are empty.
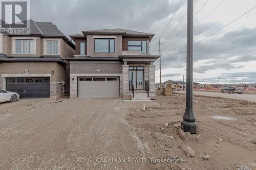
<svg viewBox="0 0 256 170">
<path fill-rule="evenodd" d="M 148 66 L 148 82 L 150 84 L 150 93 L 149 97 L 151 100 L 156 100 L 156 73 L 155 73 L 155 65 Z"/>
</svg>

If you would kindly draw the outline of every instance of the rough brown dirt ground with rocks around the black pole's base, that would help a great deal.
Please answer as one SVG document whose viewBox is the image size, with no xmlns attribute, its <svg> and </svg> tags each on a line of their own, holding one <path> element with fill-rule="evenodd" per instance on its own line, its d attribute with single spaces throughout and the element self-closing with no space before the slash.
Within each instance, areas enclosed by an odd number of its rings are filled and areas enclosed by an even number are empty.
<svg viewBox="0 0 256 170">
<path fill-rule="evenodd" d="M 195 135 L 180 129 L 185 94 L 157 95 L 156 102 L 125 106 L 130 108 L 128 122 L 140 129 L 137 135 L 151 150 L 148 157 L 180 160 L 150 164 L 150 169 L 256 169 L 256 102 L 195 95 Z"/>
</svg>

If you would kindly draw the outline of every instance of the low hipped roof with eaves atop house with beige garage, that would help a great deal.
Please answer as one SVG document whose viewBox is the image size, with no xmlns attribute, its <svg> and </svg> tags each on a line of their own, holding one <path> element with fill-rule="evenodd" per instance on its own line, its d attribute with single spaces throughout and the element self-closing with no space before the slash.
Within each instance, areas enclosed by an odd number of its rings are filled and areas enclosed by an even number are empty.
<svg viewBox="0 0 256 170">
<path fill-rule="evenodd" d="M 144 33 L 139 31 L 125 30 L 125 29 L 102 29 L 102 30 L 89 30 L 82 31 L 82 34 L 70 35 L 70 37 L 75 40 L 75 38 L 83 38 L 86 35 L 101 34 L 101 35 L 122 35 L 124 37 L 148 37 L 150 40 L 153 38 L 154 34 Z"/>
</svg>

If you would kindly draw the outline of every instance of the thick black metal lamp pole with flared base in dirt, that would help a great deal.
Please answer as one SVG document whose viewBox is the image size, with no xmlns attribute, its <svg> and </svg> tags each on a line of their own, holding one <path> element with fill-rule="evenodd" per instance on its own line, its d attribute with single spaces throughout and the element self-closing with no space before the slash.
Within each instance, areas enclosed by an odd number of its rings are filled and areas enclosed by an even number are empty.
<svg viewBox="0 0 256 170">
<path fill-rule="evenodd" d="M 187 0 L 187 77 L 186 110 L 181 122 L 181 129 L 196 134 L 198 125 L 193 111 L 193 0 Z"/>
</svg>

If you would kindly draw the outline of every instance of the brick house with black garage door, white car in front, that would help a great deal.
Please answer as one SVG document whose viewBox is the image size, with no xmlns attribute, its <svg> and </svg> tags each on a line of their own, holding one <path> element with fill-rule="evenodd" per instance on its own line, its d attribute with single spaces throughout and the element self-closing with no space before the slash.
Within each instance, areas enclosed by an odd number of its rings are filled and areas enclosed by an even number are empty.
<svg viewBox="0 0 256 170">
<path fill-rule="evenodd" d="M 29 20 L 30 34 L 0 35 L 0 88 L 20 98 L 63 97 L 75 45 L 52 22 Z"/>
</svg>

